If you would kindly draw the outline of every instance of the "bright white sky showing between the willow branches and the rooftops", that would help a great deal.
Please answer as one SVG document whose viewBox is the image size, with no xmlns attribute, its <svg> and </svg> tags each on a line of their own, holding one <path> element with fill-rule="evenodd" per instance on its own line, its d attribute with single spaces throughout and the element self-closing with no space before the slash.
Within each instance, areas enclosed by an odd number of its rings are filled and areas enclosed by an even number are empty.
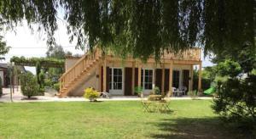
<svg viewBox="0 0 256 139">
<path fill-rule="evenodd" d="M 61 45 L 65 52 L 70 51 L 73 54 L 83 54 L 82 50 L 75 49 L 76 42 L 69 42 L 67 35 L 66 23 L 62 19 L 57 20 L 58 30 L 55 32 L 55 42 Z M 34 25 L 34 27 L 37 27 Z M 3 35 L 3 40 L 10 46 L 9 53 L 4 55 L 5 60 L 1 63 L 8 63 L 9 59 L 13 56 L 30 57 L 45 57 L 47 52 L 46 36 L 44 31 L 31 31 L 26 22 L 15 27 L 15 31 L 2 31 L 0 35 Z M 204 58 L 201 53 L 202 66 L 211 66 L 209 58 Z M 35 74 L 35 67 L 25 67 L 27 70 L 32 71 Z"/>
</svg>

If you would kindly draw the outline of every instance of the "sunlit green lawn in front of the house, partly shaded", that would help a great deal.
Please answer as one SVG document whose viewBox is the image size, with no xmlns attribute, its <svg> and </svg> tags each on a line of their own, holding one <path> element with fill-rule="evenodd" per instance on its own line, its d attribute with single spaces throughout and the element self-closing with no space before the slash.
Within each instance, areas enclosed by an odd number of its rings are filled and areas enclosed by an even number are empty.
<svg viewBox="0 0 256 139">
<path fill-rule="evenodd" d="M 0 138 L 241 138 L 210 100 L 176 100 L 172 114 L 140 102 L 0 103 Z"/>
</svg>

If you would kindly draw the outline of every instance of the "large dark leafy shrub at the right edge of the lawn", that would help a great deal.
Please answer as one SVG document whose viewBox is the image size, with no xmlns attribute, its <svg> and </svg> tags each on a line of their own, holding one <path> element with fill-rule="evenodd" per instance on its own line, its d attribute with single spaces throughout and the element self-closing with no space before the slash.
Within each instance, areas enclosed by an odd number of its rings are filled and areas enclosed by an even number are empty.
<svg viewBox="0 0 256 139">
<path fill-rule="evenodd" d="M 251 64 L 253 65 L 253 64 Z M 225 60 L 218 64 L 217 92 L 212 108 L 225 120 L 245 131 L 256 129 L 256 75 L 243 73 L 241 64 Z"/>
</svg>

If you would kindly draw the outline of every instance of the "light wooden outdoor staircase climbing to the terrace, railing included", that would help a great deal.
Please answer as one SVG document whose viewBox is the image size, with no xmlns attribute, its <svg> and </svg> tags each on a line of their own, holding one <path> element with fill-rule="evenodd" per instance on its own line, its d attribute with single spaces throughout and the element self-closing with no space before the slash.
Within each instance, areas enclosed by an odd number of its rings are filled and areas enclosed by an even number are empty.
<svg viewBox="0 0 256 139">
<path fill-rule="evenodd" d="M 102 51 L 96 48 L 92 53 L 85 53 L 76 64 L 61 75 L 60 81 L 60 92 L 57 94 L 58 97 L 65 97 L 68 92 L 72 91 L 74 87 L 78 86 L 80 81 L 86 78 L 87 73 L 91 69 L 95 68 L 99 61 L 102 59 Z"/>
</svg>

